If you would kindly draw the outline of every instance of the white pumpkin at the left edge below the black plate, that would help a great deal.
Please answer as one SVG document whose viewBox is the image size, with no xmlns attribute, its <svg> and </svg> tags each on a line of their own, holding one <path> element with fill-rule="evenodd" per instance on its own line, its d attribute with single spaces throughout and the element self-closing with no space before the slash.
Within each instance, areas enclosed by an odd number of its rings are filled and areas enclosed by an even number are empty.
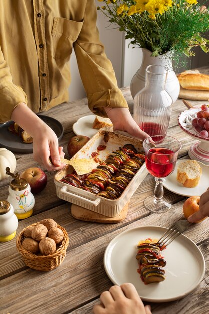
<svg viewBox="0 0 209 314">
<path fill-rule="evenodd" d="M 0 148 L 0 181 L 9 177 L 6 175 L 6 167 L 9 167 L 10 172 L 13 173 L 16 168 L 16 158 L 12 151 Z"/>
</svg>

